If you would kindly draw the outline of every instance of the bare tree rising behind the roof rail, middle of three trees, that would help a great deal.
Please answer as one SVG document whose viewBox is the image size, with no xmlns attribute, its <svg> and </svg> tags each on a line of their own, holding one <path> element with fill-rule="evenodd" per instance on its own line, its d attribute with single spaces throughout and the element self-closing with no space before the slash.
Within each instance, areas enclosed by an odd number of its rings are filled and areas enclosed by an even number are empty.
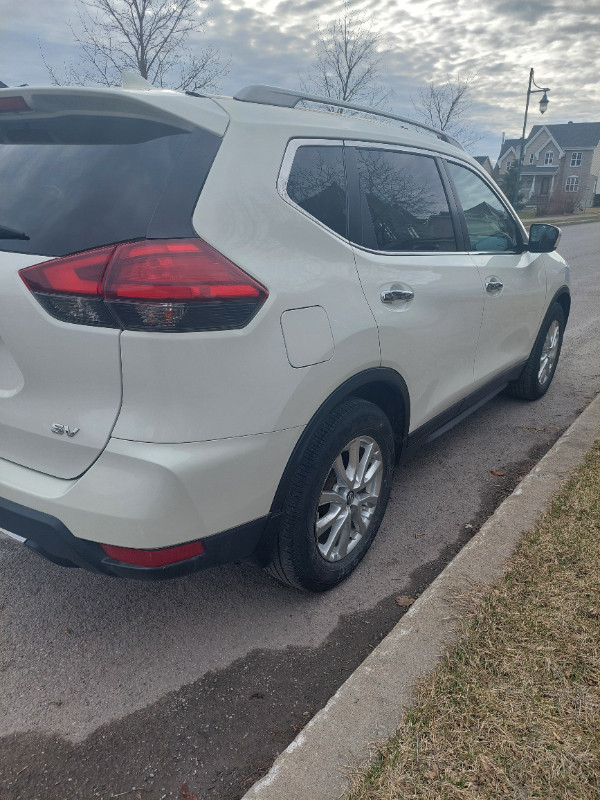
<svg viewBox="0 0 600 800">
<path fill-rule="evenodd" d="M 379 83 L 383 37 L 363 14 L 344 2 L 340 15 L 325 28 L 319 24 L 315 63 L 307 79 L 300 78 L 304 91 L 381 107 L 391 96 Z"/>
</svg>

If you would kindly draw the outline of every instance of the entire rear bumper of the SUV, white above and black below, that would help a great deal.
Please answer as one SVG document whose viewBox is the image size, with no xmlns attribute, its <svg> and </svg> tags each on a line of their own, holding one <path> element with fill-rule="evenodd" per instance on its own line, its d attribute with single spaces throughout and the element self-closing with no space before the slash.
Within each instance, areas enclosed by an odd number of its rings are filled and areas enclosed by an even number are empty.
<svg viewBox="0 0 600 800">
<path fill-rule="evenodd" d="M 0 460 L 0 528 L 57 564 L 111 575 L 166 578 L 253 555 L 264 562 L 271 504 L 301 430 L 188 444 L 112 439 L 74 480 Z M 198 540 L 201 555 L 161 567 L 115 561 L 100 546 Z"/>
</svg>

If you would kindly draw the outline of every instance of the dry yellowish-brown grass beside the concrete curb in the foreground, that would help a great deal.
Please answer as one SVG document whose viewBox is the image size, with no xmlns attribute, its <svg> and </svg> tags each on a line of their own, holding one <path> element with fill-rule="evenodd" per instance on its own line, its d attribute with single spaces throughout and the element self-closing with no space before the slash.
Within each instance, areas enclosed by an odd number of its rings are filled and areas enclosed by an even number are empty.
<svg viewBox="0 0 600 800">
<path fill-rule="evenodd" d="M 599 800 L 600 442 L 348 800 Z"/>
</svg>

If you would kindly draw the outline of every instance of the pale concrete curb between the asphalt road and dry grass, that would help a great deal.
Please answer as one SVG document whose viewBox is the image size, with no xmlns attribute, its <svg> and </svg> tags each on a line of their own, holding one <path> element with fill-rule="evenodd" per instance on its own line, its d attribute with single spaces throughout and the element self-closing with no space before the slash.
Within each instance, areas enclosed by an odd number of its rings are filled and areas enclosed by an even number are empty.
<svg viewBox="0 0 600 800">
<path fill-rule="evenodd" d="M 600 434 L 600 395 L 500 505 L 390 634 L 308 723 L 242 800 L 334 800 L 347 791 L 350 769 L 396 730 L 415 683 L 431 672 L 456 638 L 457 592 L 490 584 L 523 534 Z"/>
</svg>

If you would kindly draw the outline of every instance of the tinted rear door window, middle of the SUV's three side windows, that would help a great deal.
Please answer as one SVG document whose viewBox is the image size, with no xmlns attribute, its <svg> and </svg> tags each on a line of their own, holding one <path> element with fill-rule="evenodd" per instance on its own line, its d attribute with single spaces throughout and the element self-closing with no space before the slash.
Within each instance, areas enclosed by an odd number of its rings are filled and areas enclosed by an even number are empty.
<svg viewBox="0 0 600 800">
<path fill-rule="evenodd" d="M 357 149 L 361 205 L 372 228 L 363 244 L 384 251 L 455 251 L 454 227 L 433 158 Z M 366 207 L 366 208 L 365 208 Z"/>
</svg>

